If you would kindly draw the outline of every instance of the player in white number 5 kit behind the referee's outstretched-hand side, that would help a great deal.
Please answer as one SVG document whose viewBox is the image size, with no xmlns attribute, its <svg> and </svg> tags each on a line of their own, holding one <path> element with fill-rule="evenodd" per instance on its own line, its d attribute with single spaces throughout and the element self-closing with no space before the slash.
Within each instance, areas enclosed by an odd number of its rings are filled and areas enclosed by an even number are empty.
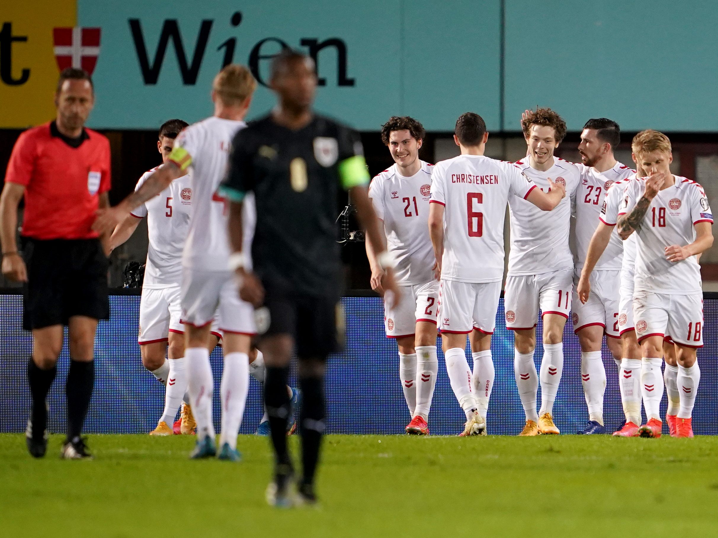
<svg viewBox="0 0 718 538">
<path fill-rule="evenodd" d="M 162 155 L 163 163 L 167 163 L 174 139 L 185 127 L 185 121 L 174 119 L 164 122 L 159 128 L 157 150 Z M 139 189 L 157 168 L 142 174 L 135 189 Z M 126 220 L 117 225 L 110 238 L 110 249 L 114 250 L 126 242 L 141 219 L 147 217 L 149 248 L 139 307 L 138 343 L 143 366 L 167 387 L 164 412 L 157 428 L 150 435 L 172 435 L 173 430 L 177 429 L 177 433 L 195 433 L 195 419 L 187 395 L 185 330 L 180 324 L 182 249 L 185 247 L 192 208 L 190 181 L 190 174 L 172 181 L 157 197 L 136 207 Z M 214 349 L 221 337 L 216 330 L 212 334 L 208 347 L 210 350 Z M 180 402 L 180 424 L 172 428 Z"/>
</svg>

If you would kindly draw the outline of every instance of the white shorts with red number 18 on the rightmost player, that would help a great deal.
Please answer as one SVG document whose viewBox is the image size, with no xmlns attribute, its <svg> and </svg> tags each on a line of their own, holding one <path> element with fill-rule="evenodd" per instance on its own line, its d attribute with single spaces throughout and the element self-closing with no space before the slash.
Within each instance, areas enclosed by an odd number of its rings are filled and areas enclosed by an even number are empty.
<svg viewBox="0 0 718 538">
<path fill-rule="evenodd" d="M 668 295 L 638 291 L 633 294 L 635 336 L 672 339 L 686 347 L 703 346 L 703 294 Z"/>
</svg>

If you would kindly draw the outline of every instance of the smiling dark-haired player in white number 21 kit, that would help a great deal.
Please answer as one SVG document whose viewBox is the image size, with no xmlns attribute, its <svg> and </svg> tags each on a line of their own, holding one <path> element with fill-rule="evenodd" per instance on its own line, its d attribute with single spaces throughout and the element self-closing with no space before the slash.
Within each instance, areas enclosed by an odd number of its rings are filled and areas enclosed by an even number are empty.
<svg viewBox="0 0 718 538">
<path fill-rule="evenodd" d="M 394 164 L 370 184 L 369 197 L 395 260 L 394 277 L 404 298 L 397 308 L 384 303 L 386 336 L 396 339 L 399 379 L 411 422 L 406 433 L 426 435 L 427 420 L 437 383 L 437 311 L 439 283 L 434 278 L 434 250 L 429 239 L 429 197 L 432 166 L 419 159 L 426 132 L 409 116 L 389 118 L 381 140 Z M 371 287 L 381 293 L 385 274 L 370 243 L 366 253 L 371 266 Z M 420 378 L 420 379 L 419 379 Z"/>
</svg>

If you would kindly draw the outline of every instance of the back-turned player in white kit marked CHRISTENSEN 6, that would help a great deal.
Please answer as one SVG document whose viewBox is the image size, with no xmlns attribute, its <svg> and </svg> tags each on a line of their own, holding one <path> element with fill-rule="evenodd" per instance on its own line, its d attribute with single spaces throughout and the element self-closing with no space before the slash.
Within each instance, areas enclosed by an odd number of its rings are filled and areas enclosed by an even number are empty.
<svg viewBox="0 0 718 538">
<path fill-rule="evenodd" d="M 566 194 L 546 179 L 536 189 L 513 163 L 484 156 L 488 139 L 480 115 L 460 115 L 454 143 L 461 155 L 441 161 L 432 172 L 429 235 L 440 278 L 439 330 L 452 390 L 466 414 L 461 435 L 485 435 L 486 410 L 494 379 L 493 334 L 503 277 L 503 222 L 511 195 L 539 209 L 554 209 Z M 474 371 L 466 360 L 471 334 Z"/>
</svg>

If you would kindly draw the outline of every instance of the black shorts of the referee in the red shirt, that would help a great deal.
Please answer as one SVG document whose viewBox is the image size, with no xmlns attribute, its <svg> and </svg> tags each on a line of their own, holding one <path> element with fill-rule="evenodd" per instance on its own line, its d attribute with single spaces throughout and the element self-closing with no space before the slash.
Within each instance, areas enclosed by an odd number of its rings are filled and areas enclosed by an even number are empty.
<svg viewBox="0 0 718 538">
<path fill-rule="evenodd" d="M 22 326 L 26 331 L 67 325 L 72 316 L 110 317 L 108 260 L 98 239 L 23 238 L 27 284 Z"/>
</svg>

